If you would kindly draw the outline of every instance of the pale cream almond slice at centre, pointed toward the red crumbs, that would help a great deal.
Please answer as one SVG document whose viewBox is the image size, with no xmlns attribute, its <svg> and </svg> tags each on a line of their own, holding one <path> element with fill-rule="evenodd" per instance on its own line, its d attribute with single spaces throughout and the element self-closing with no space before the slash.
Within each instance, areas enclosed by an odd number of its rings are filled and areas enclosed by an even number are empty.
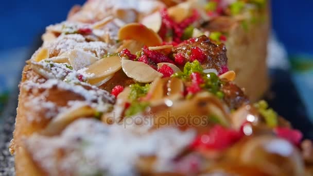
<svg viewBox="0 0 313 176">
<path fill-rule="evenodd" d="M 128 77 L 133 78 L 138 82 L 152 82 L 156 78 L 163 76 L 163 74 L 155 71 L 155 69 L 151 68 L 148 64 L 143 62 L 125 59 L 121 61 L 121 67 Z"/>
</svg>

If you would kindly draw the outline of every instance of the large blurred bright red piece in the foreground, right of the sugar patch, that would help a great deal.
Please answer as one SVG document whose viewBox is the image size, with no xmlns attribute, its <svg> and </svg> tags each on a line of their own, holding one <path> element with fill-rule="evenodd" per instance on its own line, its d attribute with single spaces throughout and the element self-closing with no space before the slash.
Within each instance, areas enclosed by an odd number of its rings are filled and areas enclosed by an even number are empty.
<svg viewBox="0 0 313 176">
<path fill-rule="evenodd" d="M 225 149 L 237 142 L 243 134 L 240 131 L 215 125 L 210 132 L 196 137 L 190 145 L 192 149 Z"/>
</svg>

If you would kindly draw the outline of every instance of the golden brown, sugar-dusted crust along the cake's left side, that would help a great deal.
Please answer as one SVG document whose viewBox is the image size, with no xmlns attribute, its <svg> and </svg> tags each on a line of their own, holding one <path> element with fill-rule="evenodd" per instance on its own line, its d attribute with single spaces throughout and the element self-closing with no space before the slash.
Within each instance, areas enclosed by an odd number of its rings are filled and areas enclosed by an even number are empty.
<svg viewBox="0 0 313 176">
<path fill-rule="evenodd" d="M 30 157 L 24 139 L 34 133 L 41 132 L 56 117 L 62 108 L 69 108 L 69 102 L 85 102 L 86 97 L 66 87 L 57 85 L 44 87 L 46 79 L 26 65 L 20 84 L 19 104 L 15 121 L 15 130 L 11 142 L 11 152 L 15 154 L 16 175 L 43 175 L 38 165 Z M 62 83 L 62 82 L 61 82 Z M 35 84 L 35 85 L 34 85 Z M 96 91 L 95 87 L 84 86 L 86 91 Z M 104 92 L 106 93 L 106 92 Z M 103 95 L 106 98 L 106 94 Z M 98 96 L 101 97 L 101 96 Z M 110 101 L 110 98 L 108 99 Z"/>
</svg>

